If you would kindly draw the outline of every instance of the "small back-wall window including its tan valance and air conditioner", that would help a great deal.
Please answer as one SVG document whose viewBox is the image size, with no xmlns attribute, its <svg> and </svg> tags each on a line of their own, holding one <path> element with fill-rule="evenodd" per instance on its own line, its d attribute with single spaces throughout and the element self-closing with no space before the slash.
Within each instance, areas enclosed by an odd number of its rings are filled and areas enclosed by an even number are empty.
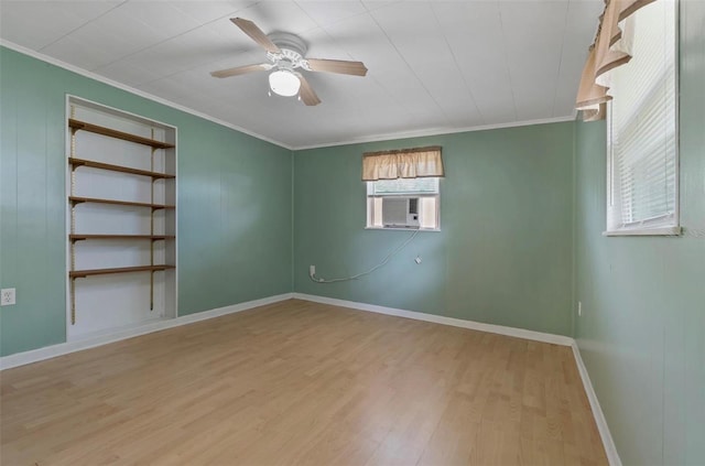
<svg viewBox="0 0 705 466">
<path fill-rule="evenodd" d="M 437 230 L 443 175 L 438 147 L 366 153 L 367 228 Z"/>
</svg>

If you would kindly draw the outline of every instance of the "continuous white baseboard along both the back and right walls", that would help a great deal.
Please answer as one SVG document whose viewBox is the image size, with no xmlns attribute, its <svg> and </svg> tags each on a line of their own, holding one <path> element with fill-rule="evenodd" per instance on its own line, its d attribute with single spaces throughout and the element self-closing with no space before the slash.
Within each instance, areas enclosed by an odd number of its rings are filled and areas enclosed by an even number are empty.
<svg viewBox="0 0 705 466">
<path fill-rule="evenodd" d="M 575 364 L 577 366 L 578 372 L 581 373 L 581 379 L 583 380 L 583 387 L 585 388 L 585 393 L 587 394 L 587 399 L 590 403 L 590 409 L 593 410 L 593 416 L 595 418 L 595 424 L 597 424 L 597 430 L 599 431 L 599 436 L 603 441 L 605 453 L 607 454 L 607 460 L 609 462 L 610 466 L 621 466 L 621 459 L 619 458 L 619 454 L 617 453 L 617 447 L 615 446 L 615 442 L 609 432 L 609 427 L 607 426 L 605 414 L 603 413 L 603 409 L 599 405 L 599 401 L 597 400 L 597 394 L 595 393 L 595 389 L 593 388 L 593 383 L 590 382 L 590 378 L 587 373 L 587 369 L 585 367 L 585 364 L 583 362 L 583 358 L 581 357 L 581 350 L 577 347 L 577 344 L 574 338 L 566 337 L 563 335 L 553 335 L 553 334 L 545 334 L 541 332 L 525 330 L 523 328 L 505 327 L 502 325 L 492 325 L 492 324 L 482 324 L 479 322 L 463 321 L 460 318 L 444 317 L 440 315 L 424 314 L 421 312 L 378 306 L 375 304 L 356 303 L 354 301 L 337 300 L 334 297 L 317 296 L 314 294 L 293 293 L 292 297 L 296 300 L 312 301 L 315 303 L 330 304 L 334 306 L 375 312 L 378 314 L 394 315 L 399 317 L 413 318 L 416 321 L 433 322 L 435 324 L 451 325 L 454 327 L 469 328 L 473 330 L 488 332 L 492 334 L 507 335 L 507 336 L 512 336 L 517 338 L 550 343 L 554 345 L 570 346 L 573 349 Z"/>
</svg>

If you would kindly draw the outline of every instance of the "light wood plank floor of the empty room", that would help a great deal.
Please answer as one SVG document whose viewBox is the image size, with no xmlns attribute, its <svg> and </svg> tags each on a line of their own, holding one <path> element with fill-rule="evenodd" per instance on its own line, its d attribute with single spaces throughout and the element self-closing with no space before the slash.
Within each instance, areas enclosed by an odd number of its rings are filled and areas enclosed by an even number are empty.
<svg viewBox="0 0 705 466">
<path fill-rule="evenodd" d="M 1 378 L 10 465 L 604 465 L 572 351 L 286 301 Z"/>
</svg>

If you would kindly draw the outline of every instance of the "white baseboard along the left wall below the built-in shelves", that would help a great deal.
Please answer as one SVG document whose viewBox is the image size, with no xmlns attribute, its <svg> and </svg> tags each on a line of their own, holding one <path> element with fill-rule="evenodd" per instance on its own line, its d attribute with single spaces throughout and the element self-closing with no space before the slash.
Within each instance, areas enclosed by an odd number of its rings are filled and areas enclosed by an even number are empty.
<svg viewBox="0 0 705 466">
<path fill-rule="evenodd" d="M 45 359 L 55 358 L 57 356 L 67 355 L 69 353 L 80 351 L 97 346 L 107 345 L 109 343 L 119 342 L 127 338 L 133 338 L 140 335 L 147 335 L 154 332 L 165 330 L 182 325 L 193 324 L 199 321 L 220 317 L 227 314 L 234 314 L 253 307 L 264 306 L 268 304 L 279 303 L 280 301 L 291 300 L 293 293 L 284 293 L 274 296 L 263 297 L 261 300 L 248 301 L 245 303 L 232 304 L 230 306 L 218 307 L 215 310 L 188 314 L 181 317 L 152 322 L 134 328 L 129 328 L 111 334 L 105 334 L 93 338 L 79 339 L 75 342 L 59 343 L 57 345 L 46 346 L 44 348 L 31 349 L 29 351 L 17 353 L 14 355 L 0 357 L 0 370 L 11 369 L 13 367 L 24 366 L 32 362 L 39 362 Z"/>
</svg>

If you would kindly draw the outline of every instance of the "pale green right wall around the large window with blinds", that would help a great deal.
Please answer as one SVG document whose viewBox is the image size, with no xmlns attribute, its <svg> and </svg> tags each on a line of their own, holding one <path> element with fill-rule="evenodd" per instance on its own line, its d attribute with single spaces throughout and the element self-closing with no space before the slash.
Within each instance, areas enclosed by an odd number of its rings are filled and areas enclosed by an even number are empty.
<svg viewBox="0 0 705 466">
<path fill-rule="evenodd" d="M 603 237 L 605 124 L 577 127 L 575 336 L 625 465 L 705 462 L 705 2 L 681 2 L 682 238 Z"/>
</svg>

